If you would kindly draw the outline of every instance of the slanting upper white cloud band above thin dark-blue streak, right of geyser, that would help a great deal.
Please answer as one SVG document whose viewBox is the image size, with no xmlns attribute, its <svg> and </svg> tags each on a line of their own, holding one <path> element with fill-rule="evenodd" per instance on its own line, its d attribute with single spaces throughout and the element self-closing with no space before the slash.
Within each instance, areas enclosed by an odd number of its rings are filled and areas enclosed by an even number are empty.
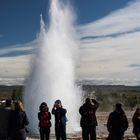
<svg viewBox="0 0 140 140">
<path fill-rule="evenodd" d="M 137 0 L 107 17 L 79 27 L 81 37 L 106 36 L 140 30 L 140 1 Z"/>
</svg>

